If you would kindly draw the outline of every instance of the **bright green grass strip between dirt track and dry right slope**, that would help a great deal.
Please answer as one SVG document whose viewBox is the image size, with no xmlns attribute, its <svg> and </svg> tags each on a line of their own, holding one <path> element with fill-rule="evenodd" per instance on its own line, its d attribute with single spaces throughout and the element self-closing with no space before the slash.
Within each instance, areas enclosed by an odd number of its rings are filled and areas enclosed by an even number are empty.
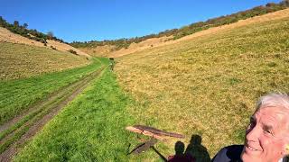
<svg viewBox="0 0 289 162">
<path fill-rule="evenodd" d="M 126 161 L 136 136 L 127 108 L 134 104 L 108 71 L 50 121 L 15 161 Z"/>
</svg>

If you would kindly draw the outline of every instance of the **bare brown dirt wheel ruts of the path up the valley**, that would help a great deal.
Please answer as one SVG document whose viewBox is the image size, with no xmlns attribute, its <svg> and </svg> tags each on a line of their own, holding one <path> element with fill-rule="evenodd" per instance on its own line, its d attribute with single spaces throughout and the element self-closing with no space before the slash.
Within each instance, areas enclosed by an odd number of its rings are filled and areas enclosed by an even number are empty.
<svg viewBox="0 0 289 162">
<path fill-rule="evenodd" d="M 12 130 L 10 133 L 7 133 L 3 139 L 0 139 L 0 146 L 7 145 L 6 142 L 10 139 L 14 139 L 14 142 L 11 144 L 8 143 L 9 147 L 5 148 L 5 151 L 2 151 L 0 154 L 0 161 L 10 161 L 14 155 L 18 152 L 19 148 L 22 148 L 26 141 L 33 138 L 33 136 L 39 131 L 42 130 L 43 126 L 60 112 L 61 108 L 65 107 L 70 101 L 72 101 L 78 94 L 80 94 L 89 83 L 98 76 L 101 76 L 103 70 L 106 67 L 100 67 L 95 72 L 89 74 L 89 76 L 84 77 L 76 83 L 62 88 L 58 93 L 53 93 L 51 96 L 37 105 L 33 106 L 29 112 L 24 112 L 22 115 L 15 117 L 13 120 L 5 123 L 0 130 L 7 131 L 13 127 L 17 122 L 21 122 L 28 115 L 34 114 L 34 116 L 28 120 L 24 121 L 23 124 Z M 0 132 L 1 132 L 0 131 Z M 19 138 L 17 134 L 23 132 Z"/>
</svg>

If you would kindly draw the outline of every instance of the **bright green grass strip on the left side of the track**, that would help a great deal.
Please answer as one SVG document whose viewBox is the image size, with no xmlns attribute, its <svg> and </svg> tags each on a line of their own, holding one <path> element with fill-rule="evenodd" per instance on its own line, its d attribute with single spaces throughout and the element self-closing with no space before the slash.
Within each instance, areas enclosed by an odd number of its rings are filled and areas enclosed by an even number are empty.
<svg viewBox="0 0 289 162">
<path fill-rule="evenodd" d="M 32 76 L 17 80 L 0 81 L 0 125 L 15 115 L 25 112 L 31 105 L 45 100 L 51 93 L 70 85 L 101 67 L 94 58 L 91 64 L 61 72 Z"/>
</svg>

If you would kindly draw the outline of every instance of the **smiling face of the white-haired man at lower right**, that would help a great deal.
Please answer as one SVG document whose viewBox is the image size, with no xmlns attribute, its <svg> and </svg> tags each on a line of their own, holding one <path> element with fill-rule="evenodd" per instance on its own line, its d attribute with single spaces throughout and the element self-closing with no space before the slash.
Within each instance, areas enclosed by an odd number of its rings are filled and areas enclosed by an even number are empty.
<svg viewBox="0 0 289 162">
<path fill-rule="evenodd" d="M 273 162 L 284 156 L 287 144 L 284 137 L 289 136 L 287 114 L 275 107 L 264 107 L 254 113 L 246 131 L 243 161 Z"/>
</svg>

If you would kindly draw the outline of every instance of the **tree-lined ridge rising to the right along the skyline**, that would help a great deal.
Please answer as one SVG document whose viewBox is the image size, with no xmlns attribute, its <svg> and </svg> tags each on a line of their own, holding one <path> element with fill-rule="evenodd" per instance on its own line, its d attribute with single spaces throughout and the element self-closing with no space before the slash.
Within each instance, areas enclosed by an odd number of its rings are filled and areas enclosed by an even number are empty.
<svg viewBox="0 0 289 162">
<path fill-rule="evenodd" d="M 119 49 L 127 49 L 129 45 L 132 43 L 138 43 L 144 40 L 153 39 L 153 38 L 161 38 L 161 37 L 167 37 L 169 39 L 166 40 L 177 40 L 184 36 L 190 35 L 192 33 L 195 33 L 197 31 L 203 31 L 206 29 L 209 29 L 211 27 L 217 27 L 224 24 L 229 23 L 236 23 L 239 20 L 245 20 L 247 18 L 251 18 L 257 15 L 262 14 L 268 14 L 273 13 L 275 11 L 283 10 L 285 8 L 289 7 L 289 0 L 284 0 L 280 2 L 279 4 L 275 3 L 268 3 L 266 5 L 260 5 L 256 6 L 252 9 L 241 11 L 236 14 L 229 14 L 220 16 L 217 18 L 212 18 L 207 20 L 206 22 L 198 22 L 198 23 L 191 23 L 190 25 L 183 26 L 180 29 L 172 29 L 172 30 L 166 30 L 159 32 L 157 34 L 150 34 L 145 35 L 142 37 L 135 37 L 135 38 L 124 38 L 124 39 L 118 39 L 118 40 L 90 40 L 90 41 L 73 41 L 70 43 L 71 46 L 75 48 L 80 49 L 92 49 L 97 48 L 100 46 L 103 46 L 105 48 L 100 48 L 100 51 L 98 49 L 95 50 L 95 52 L 109 52 L 109 51 L 116 51 Z M 108 46 L 108 47 L 107 47 Z M 94 51 L 90 51 L 94 52 Z"/>
</svg>

